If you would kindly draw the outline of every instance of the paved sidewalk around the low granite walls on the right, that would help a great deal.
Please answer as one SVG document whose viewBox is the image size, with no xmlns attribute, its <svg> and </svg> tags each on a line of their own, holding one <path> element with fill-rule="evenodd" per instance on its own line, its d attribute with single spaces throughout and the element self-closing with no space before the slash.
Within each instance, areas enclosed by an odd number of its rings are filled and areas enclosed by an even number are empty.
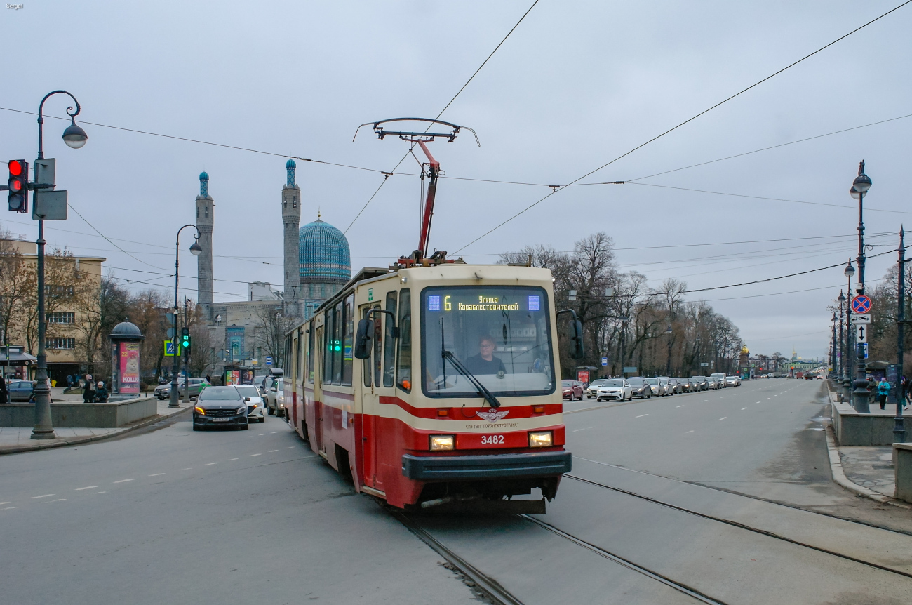
<svg viewBox="0 0 912 605">
<path fill-rule="evenodd" d="M 830 403 L 836 401 L 835 391 L 828 391 Z M 881 412 L 878 403 L 871 404 L 871 412 Z M 883 413 L 896 413 L 896 404 L 888 403 Z M 906 410 L 912 425 L 912 409 Z M 830 470 L 833 480 L 858 495 L 871 500 L 912 508 L 902 500 L 894 497 L 896 473 L 893 466 L 893 447 L 889 445 L 846 446 L 836 445 L 832 422 L 826 426 L 827 447 L 830 450 Z"/>
</svg>

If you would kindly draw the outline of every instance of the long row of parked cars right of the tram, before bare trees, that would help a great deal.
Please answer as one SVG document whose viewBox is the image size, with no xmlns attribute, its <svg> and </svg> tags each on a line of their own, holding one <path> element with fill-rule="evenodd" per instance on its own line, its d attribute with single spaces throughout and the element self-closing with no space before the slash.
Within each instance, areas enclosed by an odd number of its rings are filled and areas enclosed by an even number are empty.
<svg viewBox="0 0 912 605">
<path fill-rule="evenodd" d="M 585 388 L 578 381 L 564 381 L 563 386 L 565 400 L 573 401 L 577 397 L 578 389 L 579 399 L 583 399 L 583 393 L 585 392 L 587 399 L 595 397 L 598 402 L 626 402 L 634 397 L 649 399 L 650 397 L 666 397 L 678 393 L 740 387 L 741 377 L 726 376 L 722 373 L 712 374 L 711 376 L 691 376 L 690 378 L 671 378 L 667 376 L 643 378 L 635 376 L 631 378 L 598 379 L 590 382 Z"/>
</svg>

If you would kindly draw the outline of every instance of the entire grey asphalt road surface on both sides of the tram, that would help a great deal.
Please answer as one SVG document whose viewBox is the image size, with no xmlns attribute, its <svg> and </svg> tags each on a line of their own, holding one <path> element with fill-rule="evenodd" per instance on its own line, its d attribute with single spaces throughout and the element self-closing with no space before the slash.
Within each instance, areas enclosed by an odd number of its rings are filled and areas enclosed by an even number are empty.
<svg viewBox="0 0 912 605">
<path fill-rule="evenodd" d="M 547 515 L 409 518 L 528 605 L 905 605 L 912 513 L 832 483 L 821 386 L 568 403 Z M 4 456 L 0 503 L 3 602 L 478 602 L 273 417 Z"/>
</svg>

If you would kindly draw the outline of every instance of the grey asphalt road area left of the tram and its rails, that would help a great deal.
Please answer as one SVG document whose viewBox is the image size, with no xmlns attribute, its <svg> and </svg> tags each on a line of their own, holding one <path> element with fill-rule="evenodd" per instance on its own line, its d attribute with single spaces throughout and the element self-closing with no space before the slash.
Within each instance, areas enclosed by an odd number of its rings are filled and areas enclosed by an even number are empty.
<svg viewBox="0 0 912 605">
<path fill-rule="evenodd" d="M 273 416 L 0 458 L 0 602 L 478 603 Z"/>
</svg>

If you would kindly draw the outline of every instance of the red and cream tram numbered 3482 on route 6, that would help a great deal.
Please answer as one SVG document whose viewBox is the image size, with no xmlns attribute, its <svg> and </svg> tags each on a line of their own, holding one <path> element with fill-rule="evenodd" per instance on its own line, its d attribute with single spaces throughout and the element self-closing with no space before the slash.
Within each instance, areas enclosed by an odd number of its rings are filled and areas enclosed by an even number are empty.
<svg viewBox="0 0 912 605">
<path fill-rule="evenodd" d="M 286 337 L 288 422 L 392 506 L 550 500 L 571 464 L 556 329 L 548 269 L 363 269 Z"/>
</svg>

